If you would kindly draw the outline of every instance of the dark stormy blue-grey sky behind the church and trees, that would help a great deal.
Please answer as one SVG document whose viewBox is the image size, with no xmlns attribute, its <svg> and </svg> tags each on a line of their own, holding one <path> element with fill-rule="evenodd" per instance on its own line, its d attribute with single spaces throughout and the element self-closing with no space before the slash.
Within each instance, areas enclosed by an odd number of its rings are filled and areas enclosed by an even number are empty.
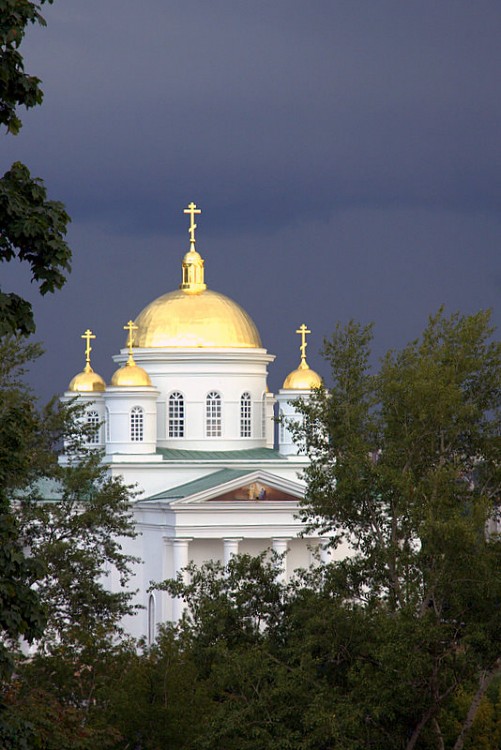
<svg viewBox="0 0 501 750">
<path fill-rule="evenodd" d="M 42 107 L 2 136 L 72 216 L 73 272 L 34 302 L 46 399 L 84 364 L 108 380 L 122 326 L 180 282 L 183 208 L 212 289 L 277 355 L 276 390 L 337 321 L 382 353 L 428 315 L 501 323 L 499 0 L 56 0 L 21 48 Z"/>
</svg>

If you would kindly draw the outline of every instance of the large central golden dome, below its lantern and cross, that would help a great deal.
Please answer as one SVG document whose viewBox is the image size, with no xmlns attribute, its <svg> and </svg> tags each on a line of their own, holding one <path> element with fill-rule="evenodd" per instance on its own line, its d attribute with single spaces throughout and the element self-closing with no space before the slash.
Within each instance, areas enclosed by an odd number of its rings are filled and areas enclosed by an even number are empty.
<svg viewBox="0 0 501 750">
<path fill-rule="evenodd" d="M 135 325 L 136 347 L 261 348 L 245 310 L 210 289 L 168 292 L 145 307 Z"/>
</svg>

